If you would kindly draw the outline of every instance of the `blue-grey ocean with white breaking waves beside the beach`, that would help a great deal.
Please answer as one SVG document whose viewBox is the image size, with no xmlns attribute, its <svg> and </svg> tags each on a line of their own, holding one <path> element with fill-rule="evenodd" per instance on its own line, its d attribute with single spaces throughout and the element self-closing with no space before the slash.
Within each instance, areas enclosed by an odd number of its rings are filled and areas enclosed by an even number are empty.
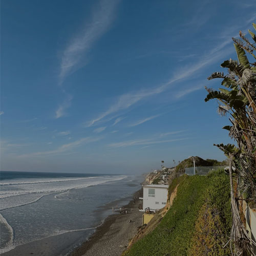
<svg viewBox="0 0 256 256">
<path fill-rule="evenodd" d="M 88 239 L 143 181 L 130 175 L 4 171 L 0 179 L 0 252 L 72 233 L 70 243 L 58 239 L 54 255 L 68 254 Z"/>
</svg>

